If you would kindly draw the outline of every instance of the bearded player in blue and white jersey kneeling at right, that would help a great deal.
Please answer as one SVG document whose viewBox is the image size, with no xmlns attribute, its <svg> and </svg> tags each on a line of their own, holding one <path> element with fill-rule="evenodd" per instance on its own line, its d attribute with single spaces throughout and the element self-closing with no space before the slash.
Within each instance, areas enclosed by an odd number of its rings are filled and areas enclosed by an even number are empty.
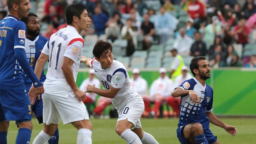
<svg viewBox="0 0 256 144">
<path fill-rule="evenodd" d="M 210 130 L 210 122 L 235 136 L 237 129 L 224 124 L 211 111 L 213 89 L 205 83 L 210 78 L 210 67 L 205 57 L 194 57 L 190 70 L 195 78 L 184 81 L 173 91 L 173 97 L 181 96 L 180 120 L 177 137 L 181 144 L 219 144 Z"/>
</svg>

